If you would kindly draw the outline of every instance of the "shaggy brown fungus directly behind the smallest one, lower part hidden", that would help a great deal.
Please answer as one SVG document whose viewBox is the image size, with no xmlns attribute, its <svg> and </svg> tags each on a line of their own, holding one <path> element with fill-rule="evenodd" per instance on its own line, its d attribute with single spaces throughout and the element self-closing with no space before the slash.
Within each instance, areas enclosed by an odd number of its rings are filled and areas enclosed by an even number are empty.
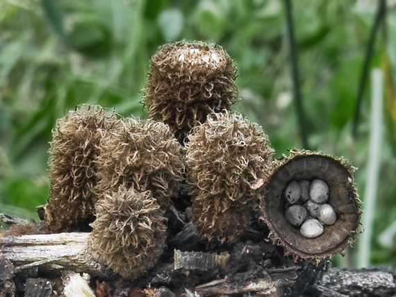
<svg viewBox="0 0 396 297">
<path fill-rule="evenodd" d="M 169 206 L 183 180 L 182 149 L 167 125 L 126 119 L 122 128 L 101 142 L 99 196 L 124 185 L 140 192 L 150 190 L 161 206 Z"/>
</svg>

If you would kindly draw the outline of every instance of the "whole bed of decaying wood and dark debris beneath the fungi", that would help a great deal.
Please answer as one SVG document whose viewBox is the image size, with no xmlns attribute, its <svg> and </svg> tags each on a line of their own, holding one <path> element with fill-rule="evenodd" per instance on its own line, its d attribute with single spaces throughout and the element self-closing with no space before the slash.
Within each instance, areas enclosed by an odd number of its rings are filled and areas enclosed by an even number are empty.
<svg viewBox="0 0 396 297">
<path fill-rule="evenodd" d="M 11 221 L 14 220 L 11 218 Z M 135 296 L 136 290 L 140 290 L 141 296 L 136 295 L 139 297 L 396 296 L 395 271 L 326 271 L 325 261 L 319 266 L 304 261 L 295 263 L 279 248 L 261 240 L 265 234 L 260 228 L 256 228 L 256 232 L 256 237 L 251 237 L 250 233 L 246 237 L 254 240 L 241 239 L 222 253 L 218 250 L 218 253 L 205 253 L 205 249 L 216 251 L 216 248 L 200 239 L 192 223 L 184 223 L 179 232 L 170 237 L 160 262 L 133 282 L 115 277 L 113 271 L 100 262 L 90 248 L 89 233 L 0 237 L 0 297 L 46 297 L 50 291 L 67 296 L 67 288 L 81 289 L 81 296 L 94 296 L 79 273 L 88 273 L 88 277 L 100 280 L 96 281 L 96 288 L 92 287 L 95 292 L 102 292 L 97 296 Z M 53 271 L 58 275 L 55 278 L 51 276 Z M 24 276 L 21 278 L 21 275 Z M 21 289 L 19 282 L 23 278 Z M 90 282 L 92 284 L 94 282 Z M 145 289 L 150 285 L 159 289 Z M 161 288 L 167 294 L 158 293 Z M 110 291 L 111 295 L 104 293 Z M 77 296 L 73 289 L 68 294 Z M 52 296 L 55 295 L 52 293 Z"/>
</svg>

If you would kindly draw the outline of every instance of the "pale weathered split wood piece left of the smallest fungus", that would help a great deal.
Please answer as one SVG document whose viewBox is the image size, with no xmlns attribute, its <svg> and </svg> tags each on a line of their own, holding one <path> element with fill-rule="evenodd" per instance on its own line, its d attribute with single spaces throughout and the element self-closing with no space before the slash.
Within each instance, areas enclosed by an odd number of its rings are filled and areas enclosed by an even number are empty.
<svg viewBox="0 0 396 297">
<path fill-rule="evenodd" d="M 1 255 L 16 271 L 32 266 L 72 270 L 109 278 L 113 271 L 99 262 L 90 248 L 88 233 L 6 236 L 0 239 Z"/>
</svg>

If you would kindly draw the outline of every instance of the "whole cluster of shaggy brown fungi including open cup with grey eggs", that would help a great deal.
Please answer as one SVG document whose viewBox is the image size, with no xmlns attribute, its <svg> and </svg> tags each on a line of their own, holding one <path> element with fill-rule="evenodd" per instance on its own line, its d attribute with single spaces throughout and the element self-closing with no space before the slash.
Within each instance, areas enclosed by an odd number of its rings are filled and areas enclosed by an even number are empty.
<svg viewBox="0 0 396 297">
<path fill-rule="evenodd" d="M 187 185 L 183 215 L 207 246 L 221 251 L 265 223 L 295 261 L 342 251 L 360 220 L 354 167 L 311 151 L 275 160 L 263 129 L 229 110 L 235 79 L 222 47 L 166 44 L 151 58 L 147 120 L 89 105 L 58 120 L 44 230 L 89 231 L 101 259 L 133 280 L 163 254 L 165 212 Z"/>
</svg>

